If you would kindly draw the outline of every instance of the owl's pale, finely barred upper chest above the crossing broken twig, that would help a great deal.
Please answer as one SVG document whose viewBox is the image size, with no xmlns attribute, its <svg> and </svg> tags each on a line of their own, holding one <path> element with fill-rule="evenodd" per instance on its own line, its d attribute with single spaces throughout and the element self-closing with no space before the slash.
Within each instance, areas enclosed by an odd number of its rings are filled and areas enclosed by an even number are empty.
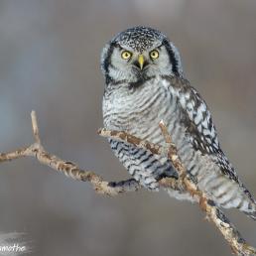
<svg viewBox="0 0 256 256">
<path fill-rule="evenodd" d="M 126 131 L 160 144 L 164 142 L 159 128 L 161 120 L 169 124 L 172 134 L 175 125 L 182 128 L 177 96 L 170 93 L 163 79 L 158 77 L 138 88 L 123 85 L 106 93 L 103 117 L 108 129 Z"/>
</svg>

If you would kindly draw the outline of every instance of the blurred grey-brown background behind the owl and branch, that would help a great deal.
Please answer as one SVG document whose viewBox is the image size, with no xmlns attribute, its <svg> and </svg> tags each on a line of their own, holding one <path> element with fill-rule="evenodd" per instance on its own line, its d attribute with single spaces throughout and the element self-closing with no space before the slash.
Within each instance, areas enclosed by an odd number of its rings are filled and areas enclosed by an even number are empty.
<svg viewBox="0 0 256 256">
<path fill-rule="evenodd" d="M 105 139 L 99 56 L 116 33 L 147 25 L 180 49 L 219 140 L 256 195 L 255 0 L 2 0 L 0 152 L 33 142 L 38 114 L 51 153 L 109 181 L 128 178 Z M 0 166 L 0 231 L 25 232 L 31 255 L 231 255 L 197 205 L 165 192 L 108 198 L 34 159 Z M 228 216 L 251 244 L 256 223 Z"/>
</svg>

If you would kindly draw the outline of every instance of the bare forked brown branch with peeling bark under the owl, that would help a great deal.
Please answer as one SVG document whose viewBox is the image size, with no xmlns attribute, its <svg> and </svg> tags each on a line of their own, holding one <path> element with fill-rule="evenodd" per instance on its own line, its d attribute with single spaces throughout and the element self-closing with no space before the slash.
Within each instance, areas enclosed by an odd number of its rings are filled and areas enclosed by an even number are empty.
<svg viewBox="0 0 256 256">
<path fill-rule="evenodd" d="M 13 152 L 1 153 L 0 163 L 23 157 L 34 157 L 41 164 L 49 166 L 69 178 L 76 181 L 89 182 L 96 192 L 111 196 L 122 192 L 136 192 L 141 189 L 141 186 L 133 179 L 121 182 L 107 182 L 91 171 L 82 170 L 74 163 L 64 161 L 61 158 L 48 153 L 41 143 L 35 111 L 32 111 L 31 118 L 35 143 Z M 159 181 L 160 186 L 162 188 L 171 188 L 174 190 L 185 190 L 190 192 L 197 201 L 201 210 L 205 212 L 206 218 L 214 223 L 236 255 L 256 255 L 256 250 L 246 243 L 239 231 L 228 220 L 224 213 L 212 200 L 207 198 L 204 192 L 199 191 L 196 185 L 192 182 L 191 177 L 183 167 L 181 159 L 178 156 L 177 148 L 172 142 L 172 137 L 168 133 L 164 122 L 160 123 L 160 128 L 162 129 L 163 136 L 165 137 L 167 147 L 161 147 L 148 141 L 141 140 L 133 135 L 127 134 L 126 132 L 108 131 L 103 128 L 98 131 L 98 134 L 103 137 L 113 138 L 133 144 L 136 147 L 149 150 L 151 153 L 156 155 L 167 156 L 179 172 L 179 180 L 177 181 L 175 179 L 165 178 Z"/>
</svg>

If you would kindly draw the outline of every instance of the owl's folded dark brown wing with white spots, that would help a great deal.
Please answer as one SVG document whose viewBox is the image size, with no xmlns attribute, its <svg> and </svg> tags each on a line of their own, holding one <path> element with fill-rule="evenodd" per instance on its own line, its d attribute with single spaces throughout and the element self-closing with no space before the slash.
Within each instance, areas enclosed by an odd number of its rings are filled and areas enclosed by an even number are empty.
<svg viewBox="0 0 256 256">
<path fill-rule="evenodd" d="M 235 170 L 220 148 L 205 101 L 188 80 L 179 77 L 169 77 L 168 80 L 171 93 L 177 95 L 178 103 L 183 109 L 182 122 L 187 127 L 187 135 L 194 149 L 202 155 L 210 155 L 224 175 L 240 183 Z"/>
</svg>

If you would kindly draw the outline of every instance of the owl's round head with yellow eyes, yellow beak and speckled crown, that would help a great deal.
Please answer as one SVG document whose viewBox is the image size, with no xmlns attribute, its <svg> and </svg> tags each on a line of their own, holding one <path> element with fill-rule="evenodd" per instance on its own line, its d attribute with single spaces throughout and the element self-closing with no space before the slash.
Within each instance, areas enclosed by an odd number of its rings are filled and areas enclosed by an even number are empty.
<svg viewBox="0 0 256 256">
<path fill-rule="evenodd" d="M 108 82 L 134 86 L 156 75 L 183 75 L 177 48 L 160 31 L 135 27 L 119 33 L 103 49 L 101 69 Z"/>
</svg>

